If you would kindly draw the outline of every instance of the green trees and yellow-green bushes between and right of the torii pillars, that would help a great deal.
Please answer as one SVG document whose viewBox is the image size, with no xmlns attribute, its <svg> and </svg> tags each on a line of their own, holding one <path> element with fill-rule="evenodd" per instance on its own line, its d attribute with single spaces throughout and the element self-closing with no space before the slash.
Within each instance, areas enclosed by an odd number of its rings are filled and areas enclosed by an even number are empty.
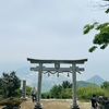
<svg viewBox="0 0 109 109">
<path fill-rule="evenodd" d="M 43 98 L 72 98 L 72 86 L 70 85 L 71 83 L 69 84 L 71 87 L 68 87 L 69 85 L 63 85 L 64 83 L 66 84 L 70 82 L 63 81 L 61 85 L 55 85 L 50 92 L 43 94 Z M 97 86 L 95 84 L 77 86 L 77 99 L 90 100 L 93 94 L 96 94 L 97 96 L 109 96 L 109 82 L 104 82 L 101 86 Z"/>
</svg>

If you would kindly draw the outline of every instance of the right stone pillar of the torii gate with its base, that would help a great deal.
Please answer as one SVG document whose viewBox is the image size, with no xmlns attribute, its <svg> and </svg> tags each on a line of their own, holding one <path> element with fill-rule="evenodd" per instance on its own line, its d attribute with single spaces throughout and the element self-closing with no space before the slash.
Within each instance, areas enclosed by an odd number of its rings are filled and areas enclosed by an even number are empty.
<svg viewBox="0 0 109 109">
<path fill-rule="evenodd" d="M 71 109 L 80 109 L 76 101 L 76 64 L 72 64 L 72 98 L 73 104 L 71 106 Z"/>
</svg>

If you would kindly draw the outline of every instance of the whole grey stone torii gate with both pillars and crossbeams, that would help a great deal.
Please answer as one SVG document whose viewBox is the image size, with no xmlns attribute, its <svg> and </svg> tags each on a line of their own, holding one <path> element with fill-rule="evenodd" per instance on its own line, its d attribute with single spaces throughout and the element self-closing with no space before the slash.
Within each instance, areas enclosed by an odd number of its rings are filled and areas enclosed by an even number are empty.
<svg viewBox="0 0 109 109">
<path fill-rule="evenodd" d="M 41 98 L 41 78 L 43 73 L 46 72 L 48 75 L 62 72 L 70 72 L 72 73 L 72 106 L 71 109 L 80 109 L 77 101 L 76 101 L 76 72 L 84 71 L 84 68 L 78 68 L 76 64 L 84 64 L 87 59 L 81 60 L 39 60 L 39 59 L 31 59 L 27 58 L 27 61 L 31 63 L 36 63 L 38 66 L 31 68 L 31 71 L 38 71 L 38 86 L 37 86 L 37 102 L 34 109 L 43 109 L 40 98 Z M 55 68 L 45 68 L 44 64 L 55 64 Z M 60 68 L 60 64 L 69 64 L 70 68 Z"/>
</svg>

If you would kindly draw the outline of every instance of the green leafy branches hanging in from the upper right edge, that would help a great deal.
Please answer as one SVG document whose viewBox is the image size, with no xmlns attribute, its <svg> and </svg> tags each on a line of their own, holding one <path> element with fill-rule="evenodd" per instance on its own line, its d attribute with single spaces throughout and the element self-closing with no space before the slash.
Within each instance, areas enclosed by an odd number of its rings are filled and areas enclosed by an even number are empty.
<svg viewBox="0 0 109 109">
<path fill-rule="evenodd" d="M 109 0 L 104 0 L 108 1 Z M 109 3 L 104 5 L 106 9 L 106 13 L 109 13 Z M 98 33 L 95 35 L 93 39 L 94 46 L 89 48 L 89 52 L 93 52 L 96 48 L 100 47 L 100 49 L 105 49 L 109 45 L 109 22 L 106 23 L 98 23 L 95 22 L 94 24 L 87 24 L 84 26 L 83 33 L 87 34 L 90 29 L 96 29 Z"/>
</svg>

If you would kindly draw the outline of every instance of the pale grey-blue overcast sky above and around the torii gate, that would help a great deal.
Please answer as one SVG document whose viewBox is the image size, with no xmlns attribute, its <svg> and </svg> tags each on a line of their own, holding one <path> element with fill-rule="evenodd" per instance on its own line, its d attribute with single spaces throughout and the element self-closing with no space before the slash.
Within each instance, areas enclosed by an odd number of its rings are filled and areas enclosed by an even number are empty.
<svg viewBox="0 0 109 109">
<path fill-rule="evenodd" d="M 109 80 L 109 48 L 88 52 L 96 32 L 88 23 L 109 21 L 101 0 L 0 0 L 0 73 L 31 65 L 26 58 L 88 59 L 78 80 Z"/>
</svg>

